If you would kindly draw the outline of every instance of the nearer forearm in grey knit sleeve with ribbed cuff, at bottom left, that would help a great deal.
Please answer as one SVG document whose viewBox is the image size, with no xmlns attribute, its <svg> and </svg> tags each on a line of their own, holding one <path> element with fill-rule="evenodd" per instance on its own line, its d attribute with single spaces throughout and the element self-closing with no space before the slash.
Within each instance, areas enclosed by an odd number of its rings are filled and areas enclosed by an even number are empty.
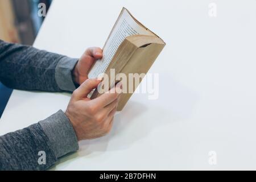
<svg viewBox="0 0 256 182">
<path fill-rule="evenodd" d="M 75 131 L 63 111 L 58 111 L 44 121 L 0 137 L 0 169 L 45 170 L 76 150 Z M 45 164 L 40 152 L 46 154 Z"/>
</svg>

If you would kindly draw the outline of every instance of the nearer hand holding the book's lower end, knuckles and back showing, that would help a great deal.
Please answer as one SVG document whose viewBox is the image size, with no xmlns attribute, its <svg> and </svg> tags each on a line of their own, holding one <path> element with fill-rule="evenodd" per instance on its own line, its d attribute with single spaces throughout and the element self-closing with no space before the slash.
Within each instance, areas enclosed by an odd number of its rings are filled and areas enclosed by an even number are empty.
<svg viewBox="0 0 256 182">
<path fill-rule="evenodd" d="M 77 88 L 65 114 L 71 121 L 78 140 L 102 137 L 112 129 L 113 118 L 121 96 L 122 83 L 93 100 L 88 94 L 97 88 L 100 80 L 88 79 Z M 113 92 L 113 91 L 117 92 Z"/>
</svg>

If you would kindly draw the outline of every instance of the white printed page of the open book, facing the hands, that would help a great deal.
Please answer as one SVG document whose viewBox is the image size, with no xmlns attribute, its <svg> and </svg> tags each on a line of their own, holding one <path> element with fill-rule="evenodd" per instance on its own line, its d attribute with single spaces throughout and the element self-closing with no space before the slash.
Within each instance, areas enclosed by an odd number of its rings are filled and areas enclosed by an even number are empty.
<svg viewBox="0 0 256 182">
<path fill-rule="evenodd" d="M 123 9 L 122 14 L 114 27 L 112 34 L 110 34 L 108 41 L 105 43 L 103 49 L 103 57 L 97 60 L 90 70 L 88 77 L 97 78 L 101 73 L 105 73 L 110 62 L 112 61 L 115 52 L 120 44 L 130 35 L 154 35 L 141 27 L 126 9 Z"/>
</svg>

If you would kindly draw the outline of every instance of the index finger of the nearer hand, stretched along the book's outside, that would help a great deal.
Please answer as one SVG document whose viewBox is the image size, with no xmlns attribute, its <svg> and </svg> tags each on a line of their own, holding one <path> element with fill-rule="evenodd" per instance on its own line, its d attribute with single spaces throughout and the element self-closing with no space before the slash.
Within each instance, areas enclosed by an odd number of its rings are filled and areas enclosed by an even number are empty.
<svg viewBox="0 0 256 182">
<path fill-rule="evenodd" d="M 93 101 L 97 102 L 100 107 L 105 107 L 116 100 L 121 93 L 115 92 L 115 90 L 122 90 L 122 84 L 117 84 L 114 88 L 108 92 L 102 94 L 100 97 L 95 98 Z"/>
</svg>

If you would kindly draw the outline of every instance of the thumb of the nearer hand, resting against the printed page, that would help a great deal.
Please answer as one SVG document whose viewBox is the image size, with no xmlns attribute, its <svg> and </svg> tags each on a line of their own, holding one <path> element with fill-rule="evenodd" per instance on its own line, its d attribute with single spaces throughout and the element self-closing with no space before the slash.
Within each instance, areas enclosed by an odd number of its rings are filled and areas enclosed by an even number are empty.
<svg viewBox="0 0 256 182">
<path fill-rule="evenodd" d="M 83 82 L 79 88 L 73 92 L 73 96 L 76 100 L 80 100 L 81 97 L 87 97 L 88 94 L 100 84 L 101 80 L 87 79 Z"/>
</svg>

